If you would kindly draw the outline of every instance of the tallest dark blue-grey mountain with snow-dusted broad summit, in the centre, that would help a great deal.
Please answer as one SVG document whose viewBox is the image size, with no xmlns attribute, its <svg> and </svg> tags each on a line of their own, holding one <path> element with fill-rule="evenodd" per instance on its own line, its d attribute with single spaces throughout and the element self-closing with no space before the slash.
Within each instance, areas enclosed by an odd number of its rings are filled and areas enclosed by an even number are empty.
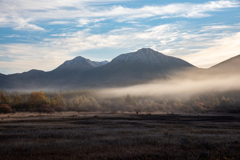
<svg viewBox="0 0 240 160">
<path fill-rule="evenodd" d="M 184 60 L 143 48 L 122 54 L 104 66 L 84 72 L 72 84 L 80 86 L 134 84 L 155 78 L 167 78 L 173 72 L 193 68 L 196 67 Z"/>
</svg>

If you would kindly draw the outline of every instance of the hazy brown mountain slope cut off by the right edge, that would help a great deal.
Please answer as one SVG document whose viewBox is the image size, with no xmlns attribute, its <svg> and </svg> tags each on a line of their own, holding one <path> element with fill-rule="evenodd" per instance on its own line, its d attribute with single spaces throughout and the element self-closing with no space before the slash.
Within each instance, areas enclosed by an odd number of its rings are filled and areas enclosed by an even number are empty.
<svg viewBox="0 0 240 160">
<path fill-rule="evenodd" d="M 210 68 L 211 72 L 218 74 L 239 73 L 240 71 L 240 55 L 225 60 Z"/>
</svg>

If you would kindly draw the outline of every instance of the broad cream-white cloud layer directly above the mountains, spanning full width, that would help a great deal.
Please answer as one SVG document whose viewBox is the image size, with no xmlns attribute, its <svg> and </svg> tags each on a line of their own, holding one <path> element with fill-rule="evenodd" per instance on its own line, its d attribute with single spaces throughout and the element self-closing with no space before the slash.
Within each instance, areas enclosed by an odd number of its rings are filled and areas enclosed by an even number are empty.
<svg viewBox="0 0 240 160">
<path fill-rule="evenodd" d="M 172 23 L 148 27 L 145 30 L 123 27 L 102 34 L 92 34 L 86 29 L 52 34 L 52 37 L 35 44 L 1 44 L 0 55 L 12 56 L 18 61 L 0 62 L 0 66 L 8 66 L 18 72 L 32 68 L 52 70 L 65 60 L 85 51 L 107 48 L 113 51 L 133 51 L 150 47 L 203 68 L 239 54 L 240 32 L 216 35 L 211 30 L 191 31 L 186 27 L 188 25 L 185 22 Z M 115 56 L 117 55 L 109 55 L 112 58 Z M 102 59 L 101 57 L 101 54 L 96 52 L 95 58 Z"/>
</svg>

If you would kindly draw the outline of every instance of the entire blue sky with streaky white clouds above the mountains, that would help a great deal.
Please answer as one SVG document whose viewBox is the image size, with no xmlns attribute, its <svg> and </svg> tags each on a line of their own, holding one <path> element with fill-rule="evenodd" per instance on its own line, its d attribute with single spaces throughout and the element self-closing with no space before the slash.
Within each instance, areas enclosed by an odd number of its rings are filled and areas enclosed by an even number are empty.
<svg viewBox="0 0 240 160">
<path fill-rule="evenodd" d="M 240 54 L 239 0 L 0 0 L 0 73 L 141 48 L 209 68 Z"/>
</svg>

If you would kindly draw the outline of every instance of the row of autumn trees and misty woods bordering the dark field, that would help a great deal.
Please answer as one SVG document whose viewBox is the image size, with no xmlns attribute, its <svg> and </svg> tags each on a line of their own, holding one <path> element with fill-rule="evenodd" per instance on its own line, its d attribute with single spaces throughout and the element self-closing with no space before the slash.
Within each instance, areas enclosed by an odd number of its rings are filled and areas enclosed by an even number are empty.
<svg viewBox="0 0 240 160">
<path fill-rule="evenodd" d="M 240 90 L 185 98 L 133 97 L 100 99 L 88 91 L 0 92 L 0 113 L 39 112 L 240 113 Z"/>
</svg>

